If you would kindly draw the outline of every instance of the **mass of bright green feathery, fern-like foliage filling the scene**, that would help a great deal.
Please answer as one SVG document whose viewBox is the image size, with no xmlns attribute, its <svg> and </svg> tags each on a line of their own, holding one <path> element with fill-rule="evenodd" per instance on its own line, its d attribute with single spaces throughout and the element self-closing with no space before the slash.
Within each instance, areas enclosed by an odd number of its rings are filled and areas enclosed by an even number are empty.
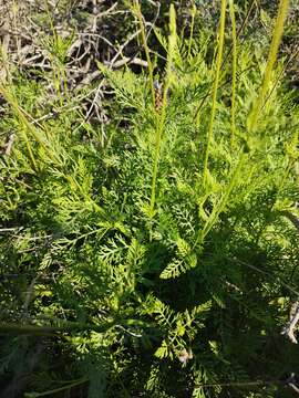
<svg viewBox="0 0 299 398">
<path fill-rule="evenodd" d="M 154 29 L 172 51 L 163 115 L 146 72 L 128 67 L 97 64 L 101 125 L 78 111 L 86 88 L 51 100 L 17 72 L 0 85 L 3 148 L 16 135 L 0 158 L 8 390 L 27 380 L 28 397 L 259 397 L 260 385 L 237 381 L 296 371 L 280 331 L 299 282 L 298 104 L 277 84 L 281 62 L 247 128 L 266 65 L 249 38 L 238 49 L 234 145 L 229 55 L 208 143 L 213 33 L 184 39 L 172 19 L 173 42 Z"/>
</svg>

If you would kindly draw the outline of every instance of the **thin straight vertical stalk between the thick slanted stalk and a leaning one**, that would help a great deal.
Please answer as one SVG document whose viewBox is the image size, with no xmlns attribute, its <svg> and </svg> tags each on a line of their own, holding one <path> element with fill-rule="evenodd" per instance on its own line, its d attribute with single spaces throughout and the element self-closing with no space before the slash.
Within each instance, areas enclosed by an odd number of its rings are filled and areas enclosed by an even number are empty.
<svg viewBox="0 0 299 398">
<path fill-rule="evenodd" d="M 234 0 L 229 0 L 229 13 L 231 20 L 231 36 L 233 36 L 233 73 L 231 73 L 231 146 L 235 142 L 236 133 L 236 82 L 237 82 L 237 33 L 236 33 L 236 18 L 234 9 Z"/>
</svg>

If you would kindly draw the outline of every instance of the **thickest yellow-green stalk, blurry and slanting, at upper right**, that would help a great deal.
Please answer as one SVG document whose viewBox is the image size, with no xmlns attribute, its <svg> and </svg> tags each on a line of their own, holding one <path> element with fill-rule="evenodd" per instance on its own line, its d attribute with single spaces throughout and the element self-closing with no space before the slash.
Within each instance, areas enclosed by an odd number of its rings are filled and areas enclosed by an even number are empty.
<svg viewBox="0 0 299 398">
<path fill-rule="evenodd" d="M 285 24 L 285 20 L 287 18 L 288 8 L 289 8 L 289 0 L 280 0 L 277 20 L 276 20 L 276 24 L 275 24 L 275 29 L 274 29 L 272 41 L 271 41 L 270 51 L 269 51 L 269 55 L 268 55 L 268 61 L 267 61 L 266 70 L 264 73 L 261 88 L 260 88 L 259 95 L 254 104 L 252 112 L 248 118 L 248 129 L 250 132 L 255 130 L 255 128 L 256 128 L 258 117 L 259 117 L 259 114 L 261 111 L 261 106 L 265 102 L 267 92 L 269 90 L 271 73 L 272 73 L 274 65 L 277 60 L 278 48 L 279 48 L 281 36 L 283 33 L 283 24 Z"/>
</svg>

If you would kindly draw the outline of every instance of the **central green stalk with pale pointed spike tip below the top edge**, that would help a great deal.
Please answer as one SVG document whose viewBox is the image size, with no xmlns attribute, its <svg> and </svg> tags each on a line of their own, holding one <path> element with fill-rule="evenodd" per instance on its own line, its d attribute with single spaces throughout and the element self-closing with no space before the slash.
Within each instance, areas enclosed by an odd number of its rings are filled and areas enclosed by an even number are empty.
<svg viewBox="0 0 299 398">
<path fill-rule="evenodd" d="M 154 167 L 153 167 L 153 179 L 152 179 L 152 195 L 151 195 L 151 213 L 154 213 L 155 201 L 156 201 L 156 180 L 158 171 L 158 161 L 159 161 L 159 151 L 161 151 L 161 139 L 164 130 L 164 124 L 166 118 L 166 107 L 167 107 L 167 92 L 171 85 L 171 73 L 172 73 L 172 63 L 174 51 L 176 46 L 176 17 L 174 6 L 171 4 L 169 10 L 169 38 L 168 38 L 168 51 L 167 51 L 167 66 L 166 75 L 163 87 L 163 101 L 161 107 L 161 114 L 157 117 L 156 124 L 156 142 L 155 142 L 155 153 L 154 153 Z"/>
</svg>

